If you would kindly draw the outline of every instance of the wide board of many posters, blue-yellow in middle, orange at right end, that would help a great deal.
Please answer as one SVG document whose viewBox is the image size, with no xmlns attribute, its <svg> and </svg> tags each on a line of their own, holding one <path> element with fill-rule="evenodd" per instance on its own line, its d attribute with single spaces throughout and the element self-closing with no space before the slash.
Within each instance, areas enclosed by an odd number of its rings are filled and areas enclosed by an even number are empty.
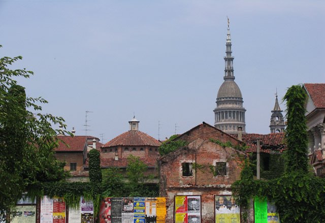
<svg viewBox="0 0 325 223">
<path fill-rule="evenodd" d="M 101 203 L 101 223 L 165 223 L 166 198 L 105 198 Z"/>
</svg>

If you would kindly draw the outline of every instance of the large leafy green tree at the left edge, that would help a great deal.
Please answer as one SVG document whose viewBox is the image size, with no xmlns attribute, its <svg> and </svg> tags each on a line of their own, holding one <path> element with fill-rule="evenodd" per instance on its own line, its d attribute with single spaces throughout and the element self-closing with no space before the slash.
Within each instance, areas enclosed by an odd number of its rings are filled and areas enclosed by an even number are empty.
<svg viewBox="0 0 325 223">
<path fill-rule="evenodd" d="M 36 103 L 47 103 L 43 98 L 26 97 L 15 78 L 29 78 L 32 71 L 10 69 L 21 59 L 0 58 L 0 216 L 32 185 L 66 176 L 54 157 L 58 142 L 57 131 L 52 128 L 65 127 L 64 120 L 41 113 L 42 107 Z"/>
</svg>

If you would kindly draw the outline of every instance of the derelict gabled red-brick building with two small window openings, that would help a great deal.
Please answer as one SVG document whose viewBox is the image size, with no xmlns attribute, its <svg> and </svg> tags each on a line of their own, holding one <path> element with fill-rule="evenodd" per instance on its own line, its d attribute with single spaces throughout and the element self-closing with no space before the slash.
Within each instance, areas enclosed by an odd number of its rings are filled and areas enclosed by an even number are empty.
<svg viewBox="0 0 325 223">
<path fill-rule="evenodd" d="M 167 219 L 173 222 L 175 196 L 201 197 L 201 222 L 215 222 L 215 195 L 230 195 L 240 178 L 245 153 L 222 147 L 210 139 L 241 145 L 237 138 L 202 123 L 179 135 L 187 146 L 159 159 L 160 196 L 167 197 Z"/>
</svg>

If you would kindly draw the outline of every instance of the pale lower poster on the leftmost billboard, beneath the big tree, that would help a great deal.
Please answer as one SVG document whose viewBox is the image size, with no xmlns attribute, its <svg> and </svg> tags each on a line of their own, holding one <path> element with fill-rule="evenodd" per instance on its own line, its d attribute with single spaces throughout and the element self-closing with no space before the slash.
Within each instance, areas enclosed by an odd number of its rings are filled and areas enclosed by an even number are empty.
<svg viewBox="0 0 325 223">
<path fill-rule="evenodd" d="M 18 205 L 14 208 L 12 223 L 35 223 L 36 205 Z"/>
</svg>

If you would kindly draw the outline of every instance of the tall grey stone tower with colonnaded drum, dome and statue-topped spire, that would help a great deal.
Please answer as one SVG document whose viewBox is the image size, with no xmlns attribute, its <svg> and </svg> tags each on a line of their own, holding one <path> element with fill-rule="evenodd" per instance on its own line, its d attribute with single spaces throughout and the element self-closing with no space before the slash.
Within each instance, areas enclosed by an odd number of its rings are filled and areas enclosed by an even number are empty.
<svg viewBox="0 0 325 223">
<path fill-rule="evenodd" d="M 245 133 L 246 109 L 243 107 L 242 93 L 235 82 L 229 19 L 225 46 L 224 82 L 219 88 L 216 100 L 217 106 L 213 110 L 214 127 L 229 134 L 236 134 L 238 127 L 242 127 L 243 133 Z"/>
</svg>

